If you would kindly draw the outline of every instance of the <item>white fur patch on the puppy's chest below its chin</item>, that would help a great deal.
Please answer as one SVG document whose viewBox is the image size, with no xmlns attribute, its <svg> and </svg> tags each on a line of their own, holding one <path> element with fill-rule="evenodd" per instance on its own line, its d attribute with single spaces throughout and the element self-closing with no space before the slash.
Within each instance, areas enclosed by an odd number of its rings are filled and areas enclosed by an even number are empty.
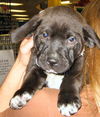
<svg viewBox="0 0 100 117">
<path fill-rule="evenodd" d="M 63 78 L 64 75 L 55 75 L 52 73 L 47 73 L 47 79 L 46 79 L 47 86 L 49 88 L 59 89 Z"/>
</svg>

